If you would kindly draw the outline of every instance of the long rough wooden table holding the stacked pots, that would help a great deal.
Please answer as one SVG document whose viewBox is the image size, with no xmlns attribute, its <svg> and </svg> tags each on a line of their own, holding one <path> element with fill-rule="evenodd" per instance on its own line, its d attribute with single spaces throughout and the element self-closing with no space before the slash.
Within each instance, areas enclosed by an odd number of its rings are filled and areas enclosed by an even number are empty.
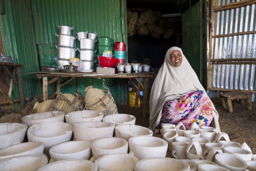
<svg viewBox="0 0 256 171">
<path fill-rule="evenodd" d="M 125 78 L 128 79 L 133 86 L 136 88 L 136 97 L 135 97 L 135 108 L 138 107 L 139 101 L 139 91 L 143 90 L 143 99 L 142 99 L 142 117 L 146 117 L 146 103 L 148 96 L 148 80 L 150 77 L 153 77 L 155 73 L 152 72 L 141 72 L 141 73 L 129 73 L 129 74 L 96 74 L 96 73 L 85 73 L 85 72 L 76 72 L 76 73 L 63 73 L 63 72 L 33 72 L 36 73 L 37 78 L 42 78 L 42 91 L 43 91 L 43 100 L 48 100 L 48 85 L 56 82 L 56 93 L 60 93 L 60 87 L 64 86 L 71 80 L 77 77 L 83 78 Z M 48 81 L 48 77 L 53 77 L 52 80 Z M 60 83 L 60 77 L 70 77 L 65 82 Z M 135 78 L 137 84 L 135 84 L 131 78 Z M 139 78 L 144 78 L 144 84 L 140 81 Z"/>
</svg>

